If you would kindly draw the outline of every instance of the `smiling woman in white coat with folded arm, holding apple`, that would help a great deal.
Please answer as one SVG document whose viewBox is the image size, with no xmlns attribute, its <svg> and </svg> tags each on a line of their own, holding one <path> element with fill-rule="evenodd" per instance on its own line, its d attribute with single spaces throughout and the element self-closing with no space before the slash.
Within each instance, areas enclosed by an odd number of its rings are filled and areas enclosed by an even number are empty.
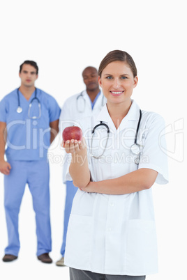
<svg viewBox="0 0 187 280">
<path fill-rule="evenodd" d="M 131 99 L 138 79 L 129 54 L 110 52 L 98 73 L 107 104 L 97 121 L 107 127 L 95 127 L 87 145 L 63 143 L 71 154 L 67 177 L 79 187 L 65 263 L 71 280 L 142 280 L 158 272 L 151 186 L 167 183 L 165 123 Z"/>
</svg>

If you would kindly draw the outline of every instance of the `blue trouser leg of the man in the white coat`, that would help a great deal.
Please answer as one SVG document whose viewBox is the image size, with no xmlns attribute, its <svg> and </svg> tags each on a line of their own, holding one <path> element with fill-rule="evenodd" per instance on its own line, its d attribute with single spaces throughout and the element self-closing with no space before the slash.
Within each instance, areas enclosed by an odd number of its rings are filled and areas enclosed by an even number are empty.
<svg viewBox="0 0 187 280">
<path fill-rule="evenodd" d="M 73 181 L 66 181 L 66 202 L 65 202 L 64 218 L 63 218 L 63 242 L 61 246 L 62 256 L 64 256 L 65 254 L 68 221 L 70 218 L 70 211 L 73 203 L 73 198 L 77 192 L 77 189 L 78 188 L 73 185 Z"/>
</svg>

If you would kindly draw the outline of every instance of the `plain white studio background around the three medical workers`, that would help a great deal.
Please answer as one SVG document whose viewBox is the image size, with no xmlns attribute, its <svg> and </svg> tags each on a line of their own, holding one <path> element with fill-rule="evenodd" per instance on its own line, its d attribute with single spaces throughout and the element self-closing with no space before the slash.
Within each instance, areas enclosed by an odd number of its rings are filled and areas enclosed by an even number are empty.
<svg viewBox="0 0 187 280">
<path fill-rule="evenodd" d="M 139 84 L 133 98 L 141 109 L 165 118 L 170 183 L 154 185 L 158 232 L 159 274 L 149 280 L 186 277 L 186 1 L 172 0 L 7 0 L 0 4 L 0 98 L 20 85 L 19 66 L 38 63 L 38 88 L 59 105 L 84 89 L 82 70 L 98 65 L 113 49 L 133 56 Z M 65 187 L 61 181 L 59 138 L 50 150 L 51 222 L 54 262 L 60 258 Z M 0 258 L 7 244 L 0 174 Z M 19 258 L 0 261 L 0 278 L 68 280 L 68 267 L 45 265 L 36 259 L 36 226 L 31 195 L 26 188 L 20 210 Z"/>
</svg>

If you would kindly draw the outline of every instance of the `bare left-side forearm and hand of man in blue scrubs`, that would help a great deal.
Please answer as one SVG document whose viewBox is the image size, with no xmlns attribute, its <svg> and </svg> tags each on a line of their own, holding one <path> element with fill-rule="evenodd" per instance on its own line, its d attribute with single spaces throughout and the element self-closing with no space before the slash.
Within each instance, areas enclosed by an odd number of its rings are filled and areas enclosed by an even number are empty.
<svg viewBox="0 0 187 280">
<path fill-rule="evenodd" d="M 11 166 L 4 160 L 6 146 L 6 123 L 0 122 L 0 172 L 8 175 L 10 173 Z"/>
</svg>

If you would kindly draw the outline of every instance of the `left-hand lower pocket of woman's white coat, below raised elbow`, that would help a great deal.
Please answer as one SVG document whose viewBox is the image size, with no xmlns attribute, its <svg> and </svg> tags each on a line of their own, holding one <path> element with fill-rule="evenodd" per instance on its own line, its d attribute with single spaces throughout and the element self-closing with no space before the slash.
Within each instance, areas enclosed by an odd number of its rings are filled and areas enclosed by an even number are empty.
<svg viewBox="0 0 187 280">
<path fill-rule="evenodd" d="M 70 215 L 66 238 L 65 263 L 71 267 L 88 267 L 91 256 L 92 221 L 89 216 Z"/>
</svg>

